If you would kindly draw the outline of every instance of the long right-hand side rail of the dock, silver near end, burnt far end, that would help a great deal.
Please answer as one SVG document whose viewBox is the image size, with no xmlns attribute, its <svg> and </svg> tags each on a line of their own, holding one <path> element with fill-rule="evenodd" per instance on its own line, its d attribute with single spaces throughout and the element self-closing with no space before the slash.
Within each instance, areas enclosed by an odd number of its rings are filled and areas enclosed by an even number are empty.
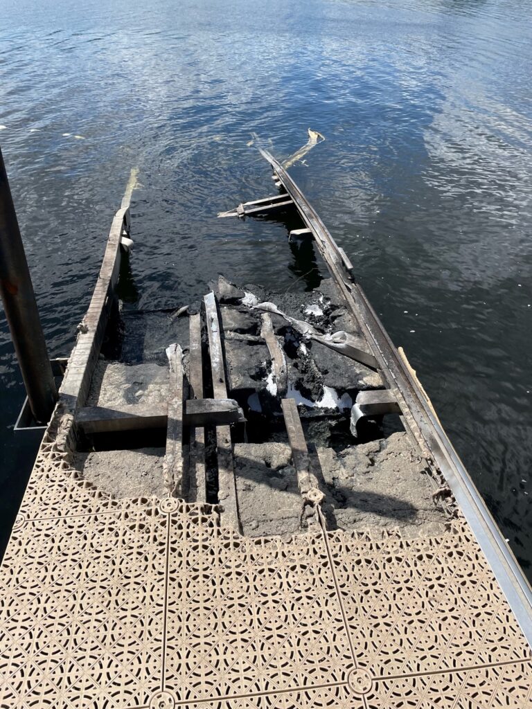
<svg viewBox="0 0 532 709">
<path fill-rule="evenodd" d="M 343 249 L 336 244 L 321 218 L 282 164 L 267 150 L 259 148 L 259 151 L 270 163 L 276 184 L 280 182 L 281 188 L 292 199 L 306 229 L 314 238 L 318 252 L 326 262 L 350 313 L 365 335 L 377 359 L 379 371 L 401 409 L 401 418 L 406 430 L 418 442 L 428 463 L 443 474 L 526 639 L 532 644 L 532 588 L 434 414 L 431 401 L 423 392 L 417 378 L 413 376 L 411 367 L 405 361 L 406 357 L 401 357 L 394 347 L 362 287 L 353 278 L 353 266 Z"/>
</svg>

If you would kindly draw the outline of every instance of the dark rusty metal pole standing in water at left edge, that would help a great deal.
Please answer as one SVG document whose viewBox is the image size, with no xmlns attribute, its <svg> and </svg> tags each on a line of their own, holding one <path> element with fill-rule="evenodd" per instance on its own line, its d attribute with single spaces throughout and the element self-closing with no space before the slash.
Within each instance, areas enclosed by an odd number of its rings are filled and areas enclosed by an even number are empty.
<svg viewBox="0 0 532 709">
<path fill-rule="evenodd" d="M 0 150 L 0 294 L 31 411 L 48 423 L 57 389 Z"/>
</svg>

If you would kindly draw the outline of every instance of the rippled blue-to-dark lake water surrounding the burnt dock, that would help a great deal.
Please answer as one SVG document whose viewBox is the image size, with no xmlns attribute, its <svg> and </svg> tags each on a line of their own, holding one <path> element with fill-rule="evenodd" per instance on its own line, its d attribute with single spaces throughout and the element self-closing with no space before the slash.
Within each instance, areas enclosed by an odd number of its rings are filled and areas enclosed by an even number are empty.
<svg viewBox="0 0 532 709">
<path fill-rule="evenodd" d="M 252 131 L 285 157 L 311 126 L 326 141 L 291 172 L 532 576 L 531 5 L 3 0 L 0 141 L 51 354 L 131 167 L 131 303 L 187 303 L 218 272 L 311 286 L 282 226 L 216 219 L 272 189 Z M 33 449 L 0 325 L 5 537 Z"/>
</svg>

